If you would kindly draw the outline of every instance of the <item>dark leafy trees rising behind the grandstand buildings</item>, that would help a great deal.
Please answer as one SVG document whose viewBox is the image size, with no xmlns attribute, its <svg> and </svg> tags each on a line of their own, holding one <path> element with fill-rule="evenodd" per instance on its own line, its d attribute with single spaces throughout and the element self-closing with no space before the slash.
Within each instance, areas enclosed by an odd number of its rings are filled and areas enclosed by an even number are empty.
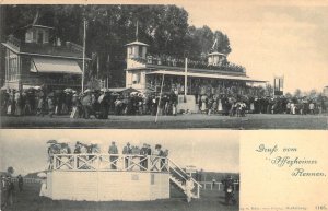
<svg viewBox="0 0 328 211">
<path fill-rule="evenodd" d="M 127 43 L 133 42 L 138 21 L 138 39 L 149 44 L 150 54 L 192 59 L 208 54 L 215 39 L 216 50 L 230 54 L 229 37 L 210 27 L 188 24 L 188 12 L 176 5 L 5 5 L 5 35 L 23 37 L 22 28 L 32 24 L 55 27 L 54 36 L 82 45 L 83 19 L 87 21 L 86 55 L 99 58 L 99 78 L 110 72 L 114 86 L 124 85 Z M 1 28 L 2 30 L 2 28 Z M 92 54 L 93 52 L 93 54 Z M 95 66 L 90 74 L 95 74 Z"/>
</svg>

